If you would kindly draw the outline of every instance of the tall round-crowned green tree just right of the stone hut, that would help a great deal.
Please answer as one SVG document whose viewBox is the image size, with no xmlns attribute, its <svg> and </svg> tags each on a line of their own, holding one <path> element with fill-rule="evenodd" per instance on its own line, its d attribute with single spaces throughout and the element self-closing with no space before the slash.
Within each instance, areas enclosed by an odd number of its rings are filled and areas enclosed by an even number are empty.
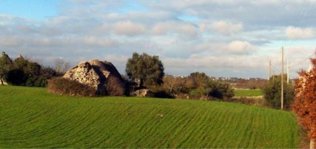
<svg viewBox="0 0 316 149">
<path fill-rule="evenodd" d="M 149 87 L 163 83 L 164 68 L 159 57 L 143 53 L 133 53 L 126 63 L 125 72 L 130 79 L 135 80 L 139 87 Z"/>
</svg>

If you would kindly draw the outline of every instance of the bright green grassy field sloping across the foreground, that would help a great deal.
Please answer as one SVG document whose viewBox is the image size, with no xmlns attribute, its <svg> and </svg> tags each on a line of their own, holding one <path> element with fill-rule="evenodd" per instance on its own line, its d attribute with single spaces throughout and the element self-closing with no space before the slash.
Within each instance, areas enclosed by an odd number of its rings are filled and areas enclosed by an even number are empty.
<svg viewBox="0 0 316 149">
<path fill-rule="evenodd" d="M 0 148 L 297 148 L 290 112 L 0 86 Z"/>
</svg>

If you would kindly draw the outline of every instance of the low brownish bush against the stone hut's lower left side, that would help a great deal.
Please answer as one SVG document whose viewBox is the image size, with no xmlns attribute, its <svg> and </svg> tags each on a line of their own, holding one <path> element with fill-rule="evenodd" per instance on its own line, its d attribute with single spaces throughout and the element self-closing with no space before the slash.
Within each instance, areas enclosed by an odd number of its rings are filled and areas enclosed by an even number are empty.
<svg viewBox="0 0 316 149">
<path fill-rule="evenodd" d="M 48 92 L 61 95 L 93 97 L 97 94 L 94 87 L 63 77 L 49 79 L 47 87 Z"/>
</svg>

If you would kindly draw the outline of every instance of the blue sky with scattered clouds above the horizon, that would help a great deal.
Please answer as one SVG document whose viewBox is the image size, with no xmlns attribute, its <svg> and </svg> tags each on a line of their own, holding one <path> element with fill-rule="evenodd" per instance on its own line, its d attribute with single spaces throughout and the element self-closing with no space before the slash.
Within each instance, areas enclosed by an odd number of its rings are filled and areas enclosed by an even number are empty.
<svg viewBox="0 0 316 149">
<path fill-rule="evenodd" d="M 99 59 L 121 74 L 146 52 L 166 74 L 267 78 L 283 46 L 293 78 L 310 66 L 315 27 L 316 0 L 0 0 L 0 51 L 49 66 Z"/>
</svg>

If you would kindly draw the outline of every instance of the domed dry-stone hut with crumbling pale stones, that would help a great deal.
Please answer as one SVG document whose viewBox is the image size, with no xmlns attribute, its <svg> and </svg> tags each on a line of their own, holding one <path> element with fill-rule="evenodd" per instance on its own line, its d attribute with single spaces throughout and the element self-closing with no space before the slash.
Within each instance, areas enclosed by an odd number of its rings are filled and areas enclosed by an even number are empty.
<svg viewBox="0 0 316 149">
<path fill-rule="evenodd" d="M 123 78 L 115 66 L 107 61 L 80 62 L 63 77 L 94 87 L 97 95 L 122 96 L 125 94 Z"/>
</svg>

